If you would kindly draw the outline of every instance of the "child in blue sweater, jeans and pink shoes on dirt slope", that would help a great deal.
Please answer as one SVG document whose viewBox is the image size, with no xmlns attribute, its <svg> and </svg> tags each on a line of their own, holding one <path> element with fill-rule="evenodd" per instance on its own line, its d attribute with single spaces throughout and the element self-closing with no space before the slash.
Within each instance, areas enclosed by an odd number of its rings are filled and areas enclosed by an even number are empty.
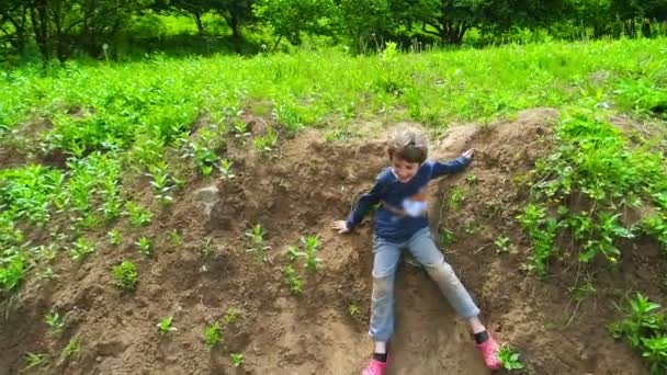
<svg viewBox="0 0 667 375">
<path fill-rule="evenodd" d="M 375 341 L 375 350 L 362 374 L 385 374 L 387 342 L 394 330 L 394 275 L 404 248 L 426 268 L 459 316 L 470 322 L 487 367 L 499 368 L 498 344 L 482 325 L 479 309 L 452 266 L 436 248 L 427 218 L 426 190 L 429 181 L 463 170 L 471 162 L 473 150 L 448 162 L 427 160 L 428 143 L 425 133 L 403 128 L 396 132 L 388 147 L 388 156 L 392 167 L 380 173 L 373 189 L 361 196 L 347 220 L 335 221 L 331 226 L 340 234 L 348 232 L 363 219 L 369 208 L 380 204 L 373 236 L 375 255 L 369 330 Z"/>
</svg>

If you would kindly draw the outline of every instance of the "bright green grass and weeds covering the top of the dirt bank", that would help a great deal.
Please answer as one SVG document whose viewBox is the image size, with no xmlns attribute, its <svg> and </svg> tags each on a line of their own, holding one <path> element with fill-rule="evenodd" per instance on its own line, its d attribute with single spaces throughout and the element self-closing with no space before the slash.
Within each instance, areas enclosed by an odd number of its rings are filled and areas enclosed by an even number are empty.
<svg viewBox="0 0 667 375">
<path fill-rule="evenodd" d="M 83 240 L 87 231 L 120 220 L 135 228 L 151 225 L 156 209 L 170 204 L 183 188 L 179 170 L 199 170 L 203 179 L 230 178 L 221 136 L 227 132 L 247 147 L 273 155 L 283 138 L 306 127 L 326 128 L 331 140 L 339 140 L 355 136 L 350 128 L 364 122 L 407 120 L 442 129 L 451 122 L 484 124 L 536 106 L 575 109 L 559 133 L 563 147 L 572 149 L 563 158 L 572 159 L 555 160 L 542 175 L 557 162 L 580 161 L 580 177 L 587 182 L 577 189 L 601 196 L 608 194 L 604 189 L 618 185 L 624 189 L 618 191 L 622 194 L 631 192 L 664 207 L 662 182 L 636 183 L 656 177 L 664 161 L 651 149 L 608 159 L 618 162 L 610 173 L 625 162 L 635 166 L 626 178 L 606 175 L 611 180 L 599 184 L 599 179 L 586 174 L 592 172 L 586 168 L 600 168 L 595 160 L 604 152 L 628 145 L 598 115 L 577 114 L 611 106 L 609 113 L 665 118 L 664 45 L 665 38 L 656 38 L 423 54 L 400 54 L 389 47 L 370 56 L 338 49 L 252 58 L 152 56 L 129 64 L 69 61 L 63 67 L 4 70 L 0 72 L 0 146 L 30 162 L 0 171 L 0 287 L 15 289 L 39 260 L 24 249 L 26 234 L 19 228 L 47 226 L 58 215 L 71 217 L 68 227 L 57 230 L 66 235 L 64 242 L 70 242 L 61 246 L 72 250 L 72 259 L 82 260 L 93 249 Z M 273 117 L 275 126 L 267 134 L 251 136 L 239 125 L 244 111 L 252 109 L 256 115 Z M 204 117 L 207 121 L 197 123 Z M 202 126 L 191 135 L 195 124 Z M 593 130 L 606 134 L 608 149 L 589 154 L 597 144 L 579 137 Z M 166 162 L 168 151 L 180 155 L 184 167 Z M 588 159 L 580 159 L 580 154 Z M 53 155 L 67 158 L 63 168 L 37 163 Z M 125 190 L 125 180 L 139 175 L 150 178 L 154 202 L 139 202 Z M 535 214 L 545 207 L 539 200 L 535 205 Z M 535 248 L 540 266 L 551 258 L 551 241 L 565 225 L 563 217 L 551 213 L 544 212 L 542 221 L 532 227 L 545 237 L 543 248 Z M 604 234 L 615 238 L 629 237 L 628 232 L 608 211 L 599 208 L 595 215 L 599 225 L 591 230 L 598 242 L 586 257 L 618 258 Z M 573 216 L 565 223 L 580 219 Z M 631 231 L 664 243 L 665 228 L 660 209 Z"/>
</svg>

